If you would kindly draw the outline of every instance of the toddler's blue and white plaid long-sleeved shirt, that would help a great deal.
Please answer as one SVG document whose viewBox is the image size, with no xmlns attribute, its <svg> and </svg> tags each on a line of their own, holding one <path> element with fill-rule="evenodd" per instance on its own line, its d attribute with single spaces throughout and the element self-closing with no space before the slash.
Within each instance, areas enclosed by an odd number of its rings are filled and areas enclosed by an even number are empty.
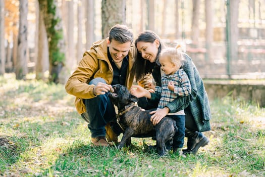
<svg viewBox="0 0 265 177">
<path fill-rule="evenodd" d="M 183 69 L 177 70 L 173 75 L 162 76 L 162 86 L 155 86 L 155 92 L 161 94 L 158 109 L 163 109 L 169 102 L 177 97 L 184 97 L 191 94 L 191 85 L 186 72 Z M 174 83 L 174 92 L 169 90 L 168 83 Z"/>
</svg>

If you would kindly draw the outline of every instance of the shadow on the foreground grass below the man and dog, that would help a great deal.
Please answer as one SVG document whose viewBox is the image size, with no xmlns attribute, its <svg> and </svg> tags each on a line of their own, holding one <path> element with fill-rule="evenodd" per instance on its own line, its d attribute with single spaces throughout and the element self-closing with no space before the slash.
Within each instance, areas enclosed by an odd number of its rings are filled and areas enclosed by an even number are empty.
<svg viewBox="0 0 265 177">
<path fill-rule="evenodd" d="M 132 145 L 121 150 L 116 146 L 94 147 L 82 141 L 74 141 L 49 168 L 44 176 L 117 176 L 134 174 L 139 161 L 159 158 L 154 152 L 142 150 L 142 146 Z"/>
</svg>

